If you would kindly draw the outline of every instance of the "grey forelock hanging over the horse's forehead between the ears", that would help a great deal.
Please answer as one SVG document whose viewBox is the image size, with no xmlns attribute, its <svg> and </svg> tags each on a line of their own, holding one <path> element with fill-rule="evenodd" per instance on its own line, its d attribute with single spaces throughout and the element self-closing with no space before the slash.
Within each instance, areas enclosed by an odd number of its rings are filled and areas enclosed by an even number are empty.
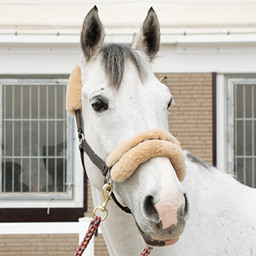
<svg viewBox="0 0 256 256">
<path fill-rule="evenodd" d="M 108 43 L 102 46 L 101 52 L 102 64 L 110 86 L 117 90 L 120 87 L 127 59 L 134 64 L 138 77 L 144 82 L 146 70 L 142 65 L 142 57 L 136 51 L 118 43 Z"/>
</svg>

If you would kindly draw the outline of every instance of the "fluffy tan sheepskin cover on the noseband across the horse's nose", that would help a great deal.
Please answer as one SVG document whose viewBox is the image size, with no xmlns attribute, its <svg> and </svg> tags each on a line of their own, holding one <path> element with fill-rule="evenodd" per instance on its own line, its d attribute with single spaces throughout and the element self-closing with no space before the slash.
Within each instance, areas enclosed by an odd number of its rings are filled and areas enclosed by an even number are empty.
<svg viewBox="0 0 256 256">
<path fill-rule="evenodd" d="M 146 130 L 122 142 L 106 158 L 106 165 L 112 166 L 114 182 L 124 182 L 140 164 L 150 158 L 166 157 L 174 166 L 182 182 L 186 176 L 186 164 L 178 140 L 165 130 Z"/>
</svg>

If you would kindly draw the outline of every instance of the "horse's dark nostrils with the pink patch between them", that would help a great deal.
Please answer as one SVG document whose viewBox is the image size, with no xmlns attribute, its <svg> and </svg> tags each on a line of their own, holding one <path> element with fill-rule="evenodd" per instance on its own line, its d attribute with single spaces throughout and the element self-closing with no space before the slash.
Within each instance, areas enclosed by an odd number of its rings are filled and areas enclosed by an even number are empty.
<svg viewBox="0 0 256 256">
<path fill-rule="evenodd" d="M 142 212 L 149 222 L 157 225 L 161 222 L 162 229 L 166 229 L 176 225 L 179 219 L 186 217 L 188 211 L 186 194 L 183 194 L 178 201 L 173 204 L 170 202 L 156 203 L 153 195 L 147 195 L 142 202 Z"/>
</svg>

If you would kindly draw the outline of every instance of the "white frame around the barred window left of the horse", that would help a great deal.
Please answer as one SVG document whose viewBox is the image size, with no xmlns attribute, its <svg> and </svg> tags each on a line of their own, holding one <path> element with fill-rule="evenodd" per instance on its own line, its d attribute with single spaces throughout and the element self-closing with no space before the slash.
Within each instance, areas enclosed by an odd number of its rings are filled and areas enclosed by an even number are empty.
<svg viewBox="0 0 256 256">
<path fill-rule="evenodd" d="M 67 83 L 67 79 L 58 79 L 59 81 Z M 1 84 L 14 82 L 14 79 L 1 79 Z M 0 88 L 1 89 L 1 88 Z M 0 90 L 0 97 L 2 104 L 2 90 Z M 2 106 L 0 120 L 2 121 Z M 72 125 L 70 130 L 76 130 L 74 118 L 68 115 L 69 123 Z M 0 122 L 2 126 L 2 122 Z M 2 127 L 0 127 L 2 130 Z M 73 159 L 69 159 L 70 166 L 68 166 L 66 193 L 33 193 L 33 194 L 18 194 L 14 196 L 12 193 L 0 194 L 0 209 L 1 208 L 78 208 L 83 207 L 84 203 L 84 186 L 83 186 L 83 170 L 81 164 L 79 165 L 78 139 L 75 139 L 76 133 L 73 131 L 68 134 L 68 140 L 73 144 Z M 2 134 L 1 134 L 2 138 Z M 0 149 L 0 157 L 2 158 L 2 148 Z M 70 157 L 70 155 L 68 155 Z M 71 157 L 72 158 L 72 157 Z M 1 166 L 2 168 L 2 166 Z"/>
</svg>

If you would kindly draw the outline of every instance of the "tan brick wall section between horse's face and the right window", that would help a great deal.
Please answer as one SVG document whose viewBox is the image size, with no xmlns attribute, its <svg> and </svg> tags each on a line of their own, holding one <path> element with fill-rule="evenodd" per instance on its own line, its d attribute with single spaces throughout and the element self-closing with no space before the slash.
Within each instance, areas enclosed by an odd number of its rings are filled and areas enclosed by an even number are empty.
<svg viewBox="0 0 256 256">
<path fill-rule="evenodd" d="M 174 96 L 169 129 L 181 143 L 205 162 L 213 162 L 212 74 L 156 74 Z"/>
</svg>

